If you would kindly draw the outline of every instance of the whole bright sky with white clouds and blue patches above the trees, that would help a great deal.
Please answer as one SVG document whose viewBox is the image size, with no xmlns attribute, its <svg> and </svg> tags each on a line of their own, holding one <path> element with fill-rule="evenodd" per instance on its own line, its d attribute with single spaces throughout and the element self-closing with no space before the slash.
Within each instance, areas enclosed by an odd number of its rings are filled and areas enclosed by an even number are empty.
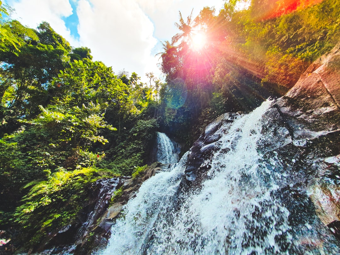
<svg viewBox="0 0 340 255">
<path fill-rule="evenodd" d="M 205 6 L 223 7 L 223 0 L 5 0 L 13 8 L 13 19 L 36 28 L 41 21 L 65 37 L 73 47 L 91 49 L 94 60 L 112 66 L 115 72 L 145 73 L 160 77 L 155 54 L 160 41 L 177 33 L 174 22 Z M 160 77 L 162 78 L 162 77 Z"/>
</svg>

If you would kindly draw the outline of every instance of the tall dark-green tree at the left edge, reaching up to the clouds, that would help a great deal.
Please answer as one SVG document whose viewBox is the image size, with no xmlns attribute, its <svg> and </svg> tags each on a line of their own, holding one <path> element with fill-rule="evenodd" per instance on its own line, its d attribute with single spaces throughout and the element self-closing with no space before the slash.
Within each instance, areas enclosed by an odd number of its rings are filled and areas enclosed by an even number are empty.
<svg viewBox="0 0 340 255">
<path fill-rule="evenodd" d="M 48 104 L 54 93 L 52 77 L 68 65 L 71 51 L 69 43 L 47 22 L 41 23 L 35 33 L 16 20 L 7 24 L 21 43 L 18 54 L 13 52 L 14 46 L 0 51 L 0 134 L 15 130 L 18 120 L 35 117 L 40 112 L 38 106 Z"/>
</svg>

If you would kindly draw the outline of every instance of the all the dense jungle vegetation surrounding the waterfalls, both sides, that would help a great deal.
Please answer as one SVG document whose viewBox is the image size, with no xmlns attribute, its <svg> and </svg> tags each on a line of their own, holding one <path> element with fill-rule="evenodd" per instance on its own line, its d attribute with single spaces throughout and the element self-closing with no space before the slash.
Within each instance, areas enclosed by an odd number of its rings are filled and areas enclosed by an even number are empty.
<svg viewBox="0 0 340 255">
<path fill-rule="evenodd" d="M 77 221 L 93 182 L 150 164 L 155 131 L 190 148 L 225 112 L 284 95 L 340 38 L 340 1 L 229 0 L 175 23 L 165 81 L 114 73 L 47 22 L 8 18 L 0 1 L 0 230 L 34 245 Z M 194 37 L 205 44 L 195 47 Z M 19 245 L 19 246 L 20 246 Z"/>
</svg>

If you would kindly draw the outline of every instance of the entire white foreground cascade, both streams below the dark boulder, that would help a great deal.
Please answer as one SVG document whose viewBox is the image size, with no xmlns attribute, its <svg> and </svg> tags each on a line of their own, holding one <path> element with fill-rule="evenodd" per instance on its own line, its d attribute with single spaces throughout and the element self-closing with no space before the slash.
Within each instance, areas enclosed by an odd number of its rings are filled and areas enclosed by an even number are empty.
<svg viewBox="0 0 340 255">
<path fill-rule="evenodd" d="M 219 148 L 202 164 L 209 171 L 201 185 L 189 191 L 181 185 L 188 153 L 171 171 L 144 182 L 102 254 L 337 254 L 336 245 L 313 239 L 323 233 L 315 234 L 308 221 L 301 228 L 307 240 L 292 231 L 277 194 L 288 175 L 284 163 L 259 152 L 261 118 L 270 104 L 219 129 Z M 312 248 L 301 250 L 305 243 Z"/>
</svg>

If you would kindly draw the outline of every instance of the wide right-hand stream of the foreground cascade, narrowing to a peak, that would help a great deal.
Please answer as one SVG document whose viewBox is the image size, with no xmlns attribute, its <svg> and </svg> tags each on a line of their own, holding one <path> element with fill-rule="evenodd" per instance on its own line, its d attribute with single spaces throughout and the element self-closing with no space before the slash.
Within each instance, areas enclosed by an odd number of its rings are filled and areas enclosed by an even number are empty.
<svg viewBox="0 0 340 255">
<path fill-rule="evenodd" d="M 289 212 L 272 199 L 277 186 L 256 150 L 269 105 L 234 121 L 220 150 L 203 163 L 210 168 L 209 180 L 163 223 L 147 254 L 277 253 L 275 238 L 285 235 L 290 242 Z"/>
</svg>

